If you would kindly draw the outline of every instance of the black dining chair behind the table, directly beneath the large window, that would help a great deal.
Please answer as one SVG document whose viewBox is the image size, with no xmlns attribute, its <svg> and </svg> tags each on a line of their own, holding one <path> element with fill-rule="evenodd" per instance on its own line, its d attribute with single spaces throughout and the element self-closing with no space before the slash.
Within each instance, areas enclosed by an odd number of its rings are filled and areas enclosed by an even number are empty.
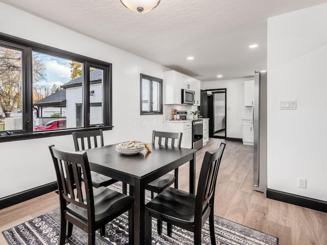
<svg viewBox="0 0 327 245">
<path fill-rule="evenodd" d="M 104 146 L 102 129 L 94 131 L 73 132 L 72 135 L 74 139 L 75 151 Z M 96 188 L 99 188 L 100 186 L 108 186 L 118 182 L 118 180 L 99 174 L 95 171 L 91 171 L 91 177 L 92 185 Z M 123 193 L 127 193 L 127 184 L 124 183 Z"/>
</svg>

